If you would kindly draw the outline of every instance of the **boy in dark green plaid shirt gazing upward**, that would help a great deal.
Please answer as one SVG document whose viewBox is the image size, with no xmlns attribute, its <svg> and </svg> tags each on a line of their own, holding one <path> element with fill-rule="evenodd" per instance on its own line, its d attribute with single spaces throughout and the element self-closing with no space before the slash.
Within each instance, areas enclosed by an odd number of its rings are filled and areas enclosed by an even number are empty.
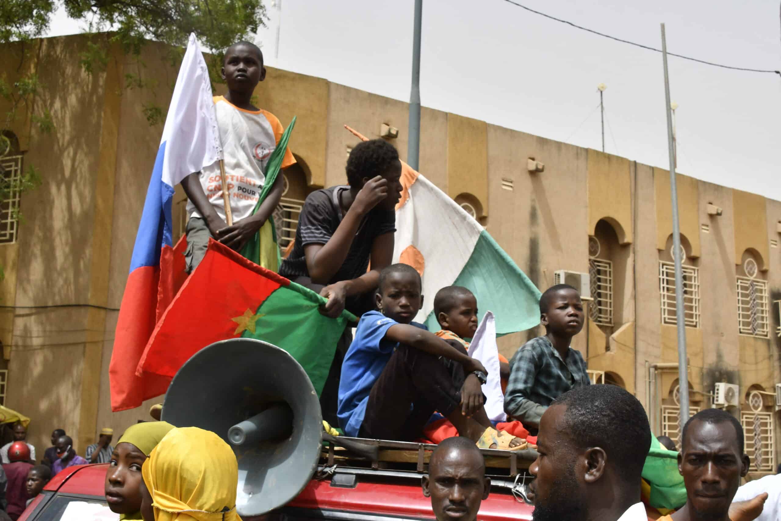
<svg viewBox="0 0 781 521">
<path fill-rule="evenodd" d="M 510 359 L 505 412 L 537 434 L 543 412 L 574 387 L 590 385 L 580 351 L 569 347 L 583 329 L 583 302 L 569 284 L 549 287 L 540 297 L 542 337 L 523 344 Z"/>
</svg>

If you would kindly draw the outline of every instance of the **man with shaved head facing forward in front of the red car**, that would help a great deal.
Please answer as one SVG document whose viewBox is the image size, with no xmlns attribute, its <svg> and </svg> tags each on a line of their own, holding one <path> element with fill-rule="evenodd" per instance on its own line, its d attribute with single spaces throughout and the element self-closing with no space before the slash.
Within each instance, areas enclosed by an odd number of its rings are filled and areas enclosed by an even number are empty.
<svg viewBox="0 0 781 521">
<path fill-rule="evenodd" d="M 475 521 L 490 494 L 490 478 L 480 449 L 467 437 L 449 437 L 434 449 L 423 495 L 431 498 L 437 521 Z"/>
</svg>

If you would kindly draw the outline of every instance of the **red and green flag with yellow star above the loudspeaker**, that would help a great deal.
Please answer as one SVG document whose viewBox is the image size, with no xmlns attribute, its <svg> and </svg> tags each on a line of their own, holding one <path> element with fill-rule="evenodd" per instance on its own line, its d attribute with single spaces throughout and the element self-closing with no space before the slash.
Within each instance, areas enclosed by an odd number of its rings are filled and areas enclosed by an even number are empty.
<svg viewBox="0 0 781 521">
<path fill-rule="evenodd" d="M 209 240 L 203 261 L 155 326 L 136 373 L 173 378 L 201 348 L 250 337 L 289 352 L 319 394 L 344 327 L 357 320 L 349 312 L 337 319 L 323 316 L 319 306 L 324 302 L 314 291 Z M 259 378 L 265 369 L 258 368 Z"/>
</svg>

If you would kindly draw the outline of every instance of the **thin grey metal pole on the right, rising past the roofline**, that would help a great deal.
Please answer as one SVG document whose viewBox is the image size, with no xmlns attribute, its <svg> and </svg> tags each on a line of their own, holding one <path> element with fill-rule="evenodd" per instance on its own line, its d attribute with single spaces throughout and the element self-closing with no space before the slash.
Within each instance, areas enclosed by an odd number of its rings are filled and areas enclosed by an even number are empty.
<svg viewBox="0 0 781 521">
<path fill-rule="evenodd" d="M 678 225 L 678 190 L 676 188 L 676 152 L 672 142 L 672 108 L 670 80 L 667 73 L 667 40 L 662 23 L 662 62 L 665 66 L 665 112 L 667 112 L 667 143 L 670 156 L 670 198 L 672 198 L 672 252 L 676 263 L 676 324 L 678 327 L 678 388 L 680 392 L 681 427 L 689 419 L 689 368 L 686 362 L 686 318 L 683 308 L 683 270 L 681 269 L 681 234 Z"/>
</svg>

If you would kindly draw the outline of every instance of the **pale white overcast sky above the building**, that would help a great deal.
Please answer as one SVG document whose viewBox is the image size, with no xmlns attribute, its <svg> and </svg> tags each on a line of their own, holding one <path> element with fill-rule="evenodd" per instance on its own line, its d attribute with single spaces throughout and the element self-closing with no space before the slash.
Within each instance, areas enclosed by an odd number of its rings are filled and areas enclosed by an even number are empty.
<svg viewBox="0 0 781 521">
<path fill-rule="evenodd" d="M 659 23 L 665 22 L 669 52 L 781 69 L 778 0 L 518 2 L 655 48 L 661 48 Z M 267 65 L 408 101 L 413 0 L 266 5 L 270 20 L 258 43 Z M 58 12 L 50 34 L 75 32 L 79 24 Z M 679 173 L 781 200 L 781 77 L 675 57 L 669 72 L 679 104 Z M 667 168 L 660 53 L 504 0 L 423 0 L 425 106 L 598 150 L 600 83 L 608 86 L 606 152 Z M 400 130 L 406 136 L 407 129 Z"/>
</svg>

